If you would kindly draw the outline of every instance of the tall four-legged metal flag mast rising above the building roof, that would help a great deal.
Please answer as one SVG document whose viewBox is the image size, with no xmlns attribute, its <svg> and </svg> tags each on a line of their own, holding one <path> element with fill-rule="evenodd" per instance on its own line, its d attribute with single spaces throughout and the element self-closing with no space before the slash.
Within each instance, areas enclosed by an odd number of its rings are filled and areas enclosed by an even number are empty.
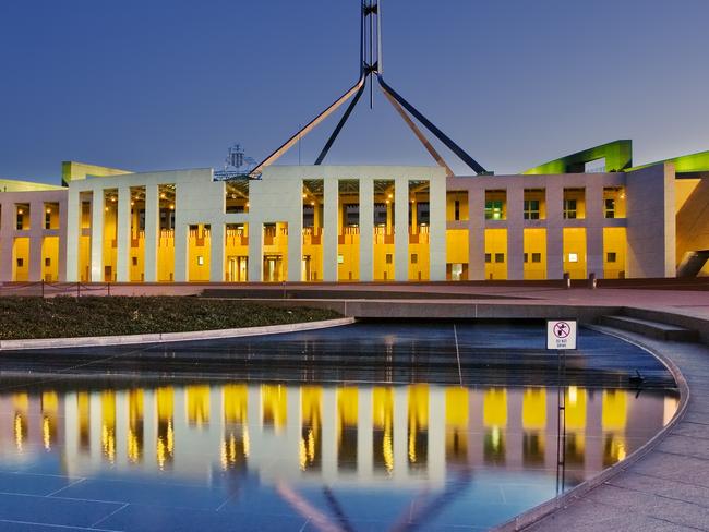
<svg viewBox="0 0 709 532">
<path fill-rule="evenodd" d="M 436 128 L 423 113 L 416 107 L 409 104 L 404 97 L 398 94 L 394 88 L 384 82 L 383 76 L 383 47 L 382 47 L 382 0 L 359 0 L 361 1 L 360 14 L 360 77 L 358 82 L 333 102 L 327 109 L 317 114 L 304 128 L 301 128 L 298 133 L 291 136 L 285 144 L 283 144 L 273 154 L 266 157 L 261 164 L 251 171 L 250 176 L 256 177 L 261 174 L 264 168 L 273 165 L 280 156 L 288 152 L 296 143 L 310 133 L 320 122 L 335 112 L 343 104 L 349 100 L 352 96 L 354 98 L 347 107 L 335 130 L 325 143 L 322 152 L 315 160 L 315 165 L 321 165 L 327 153 L 333 147 L 340 131 L 347 123 L 350 114 L 357 104 L 359 102 L 366 82 L 370 82 L 370 109 L 374 108 L 374 77 L 378 83 L 380 88 L 386 96 L 386 99 L 392 104 L 394 109 L 401 116 L 405 123 L 411 129 L 416 137 L 423 144 L 425 149 L 431 154 L 435 161 L 445 169 L 447 176 L 453 176 L 453 170 L 445 162 L 443 157 L 435 150 L 433 145 L 428 141 L 425 135 L 417 126 L 413 117 L 420 124 L 422 124 L 430 133 L 432 133 L 441 143 L 443 143 L 450 152 L 453 152 L 462 162 L 470 167 L 478 174 L 490 174 L 477 160 L 470 157 L 460 146 L 453 142 L 443 131 Z"/>
</svg>

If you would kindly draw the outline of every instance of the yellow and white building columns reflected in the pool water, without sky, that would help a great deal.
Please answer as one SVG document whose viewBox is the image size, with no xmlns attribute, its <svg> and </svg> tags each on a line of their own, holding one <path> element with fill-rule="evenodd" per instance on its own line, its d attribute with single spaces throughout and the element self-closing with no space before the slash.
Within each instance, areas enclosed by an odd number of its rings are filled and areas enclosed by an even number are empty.
<svg viewBox="0 0 709 532">
<path fill-rule="evenodd" d="M 569 479 L 632 452 L 674 398 L 566 390 Z M 556 394 L 436 385 L 230 384 L 0 396 L 0 458 L 62 452 L 67 474 L 111 463 L 211 479 L 441 485 L 448 468 L 555 469 Z M 636 437 L 640 435 L 641 437 Z M 633 437 L 630 437 L 633 436 Z"/>
</svg>

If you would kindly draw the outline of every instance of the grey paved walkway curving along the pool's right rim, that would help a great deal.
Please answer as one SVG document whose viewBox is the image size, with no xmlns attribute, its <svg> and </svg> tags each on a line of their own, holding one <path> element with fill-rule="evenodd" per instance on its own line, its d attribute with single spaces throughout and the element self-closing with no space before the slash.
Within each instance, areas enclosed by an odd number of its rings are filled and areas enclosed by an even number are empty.
<svg viewBox="0 0 709 532">
<path fill-rule="evenodd" d="M 690 390 L 683 418 L 637 462 L 526 530 L 709 530 L 709 349 L 624 336 L 678 366 Z"/>
</svg>

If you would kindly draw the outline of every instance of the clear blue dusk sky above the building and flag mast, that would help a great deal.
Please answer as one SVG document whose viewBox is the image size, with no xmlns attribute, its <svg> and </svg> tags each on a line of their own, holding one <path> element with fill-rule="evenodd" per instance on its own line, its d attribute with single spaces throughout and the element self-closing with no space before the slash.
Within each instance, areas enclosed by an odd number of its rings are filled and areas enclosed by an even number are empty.
<svg viewBox="0 0 709 532">
<path fill-rule="evenodd" d="M 617 138 L 636 164 L 709 149 L 707 0 L 383 11 L 387 82 L 496 173 Z M 261 159 L 354 83 L 358 37 L 358 0 L 2 0 L 0 177 L 58 182 L 62 160 L 220 168 L 237 142 Z M 377 94 L 326 164 L 433 161 Z"/>
</svg>

